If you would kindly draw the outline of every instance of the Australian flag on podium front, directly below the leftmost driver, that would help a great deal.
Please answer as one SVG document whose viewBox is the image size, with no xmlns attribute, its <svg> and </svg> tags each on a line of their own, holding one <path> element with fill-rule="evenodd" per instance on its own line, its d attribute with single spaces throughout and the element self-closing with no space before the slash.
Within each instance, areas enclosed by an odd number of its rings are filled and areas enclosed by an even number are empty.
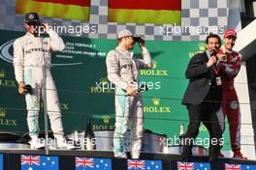
<svg viewBox="0 0 256 170">
<path fill-rule="evenodd" d="M 58 170 L 57 156 L 20 156 L 21 170 Z"/>
</svg>

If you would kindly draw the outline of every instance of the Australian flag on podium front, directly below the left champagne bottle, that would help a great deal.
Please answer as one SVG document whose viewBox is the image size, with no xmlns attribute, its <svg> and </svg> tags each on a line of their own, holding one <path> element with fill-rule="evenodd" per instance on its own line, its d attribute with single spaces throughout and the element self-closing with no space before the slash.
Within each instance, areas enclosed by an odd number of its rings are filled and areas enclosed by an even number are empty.
<svg viewBox="0 0 256 170">
<path fill-rule="evenodd" d="M 112 170 L 112 159 L 76 157 L 76 170 Z"/>
</svg>

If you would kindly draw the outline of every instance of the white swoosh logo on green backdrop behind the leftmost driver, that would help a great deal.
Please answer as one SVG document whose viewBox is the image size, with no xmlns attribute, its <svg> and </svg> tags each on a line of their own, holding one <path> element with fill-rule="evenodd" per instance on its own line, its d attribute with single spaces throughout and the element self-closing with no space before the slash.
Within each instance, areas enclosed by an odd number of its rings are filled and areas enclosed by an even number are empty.
<svg viewBox="0 0 256 170">
<path fill-rule="evenodd" d="M 15 40 L 5 42 L 0 46 L 0 58 L 8 63 L 14 62 L 13 53 L 11 53 L 11 49 L 13 49 Z M 71 65 L 81 65 L 82 63 L 60 63 L 60 64 L 51 64 L 51 66 L 71 66 Z"/>
</svg>

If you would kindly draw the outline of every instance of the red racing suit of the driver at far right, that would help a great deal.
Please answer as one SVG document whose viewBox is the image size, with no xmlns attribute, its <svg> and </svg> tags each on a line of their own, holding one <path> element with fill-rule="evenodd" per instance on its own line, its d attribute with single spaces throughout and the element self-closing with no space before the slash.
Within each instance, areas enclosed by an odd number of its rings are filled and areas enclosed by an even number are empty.
<svg viewBox="0 0 256 170">
<path fill-rule="evenodd" d="M 217 112 L 220 127 L 225 130 L 225 116 L 227 115 L 232 151 L 240 151 L 240 104 L 234 86 L 234 78 L 240 71 L 241 57 L 238 52 L 227 51 L 222 46 L 218 56 L 222 55 L 223 60 L 219 61 L 218 74 L 222 80 L 222 106 Z"/>
</svg>

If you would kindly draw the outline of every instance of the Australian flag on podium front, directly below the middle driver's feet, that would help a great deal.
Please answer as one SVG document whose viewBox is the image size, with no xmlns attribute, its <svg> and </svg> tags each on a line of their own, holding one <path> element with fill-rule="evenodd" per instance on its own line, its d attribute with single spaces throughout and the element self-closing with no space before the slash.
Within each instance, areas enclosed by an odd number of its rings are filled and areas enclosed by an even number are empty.
<svg viewBox="0 0 256 170">
<path fill-rule="evenodd" d="M 128 170 L 162 170 L 161 160 L 140 160 L 140 159 L 127 159 Z"/>
</svg>

